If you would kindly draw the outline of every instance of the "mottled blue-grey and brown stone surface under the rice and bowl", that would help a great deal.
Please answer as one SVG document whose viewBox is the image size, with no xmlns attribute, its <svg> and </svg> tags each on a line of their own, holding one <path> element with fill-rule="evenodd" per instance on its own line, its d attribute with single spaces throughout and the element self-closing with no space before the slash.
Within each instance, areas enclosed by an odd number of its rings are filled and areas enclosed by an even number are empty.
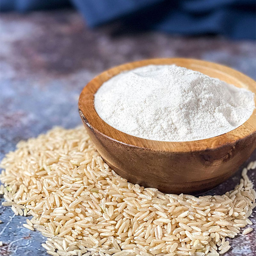
<svg viewBox="0 0 256 256">
<path fill-rule="evenodd" d="M 73 11 L 1 14 L 1 159 L 15 149 L 19 140 L 37 136 L 54 125 L 71 128 L 81 124 L 77 101 L 84 85 L 101 71 L 124 62 L 155 57 L 197 58 L 256 77 L 254 41 L 153 32 L 124 34 L 114 32 L 116 26 L 90 30 Z M 250 161 L 255 159 L 254 152 Z M 208 193 L 223 194 L 234 188 L 242 167 Z M 255 182 L 255 171 L 249 175 Z M 49 255 L 41 246 L 44 237 L 22 227 L 25 217 L 14 218 L 10 207 L 1 205 L 0 219 L 0 241 L 4 244 L 0 255 Z M 255 255 L 255 211 L 250 219 L 254 231 L 230 239 L 231 249 L 225 255 Z"/>
</svg>

